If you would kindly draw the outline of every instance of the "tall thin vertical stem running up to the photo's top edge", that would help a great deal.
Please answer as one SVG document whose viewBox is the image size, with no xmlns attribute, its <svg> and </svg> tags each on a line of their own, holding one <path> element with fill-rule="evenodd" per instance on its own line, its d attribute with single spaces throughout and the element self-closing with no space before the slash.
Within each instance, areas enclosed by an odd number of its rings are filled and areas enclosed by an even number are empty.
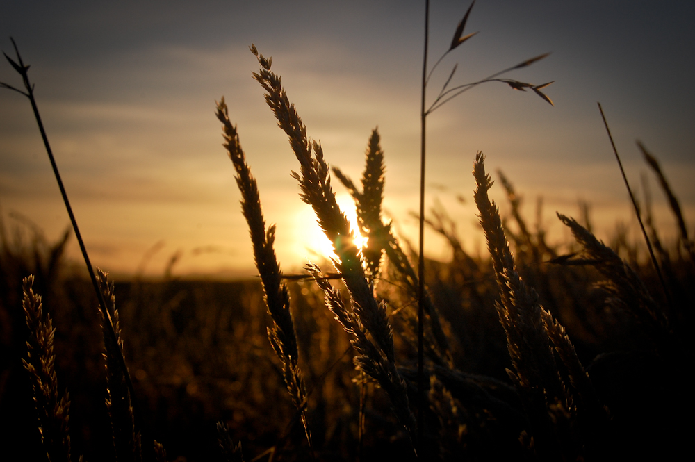
<svg viewBox="0 0 695 462">
<path fill-rule="evenodd" d="M 425 436 L 425 135 L 427 112 L 427 40 L 430 34 L 430 0 L 425 1 L 425 56 L 423 87 L 420 101 L 420 259 L 418 260 L 418 454 L 423 456 Z"/>
</svg>

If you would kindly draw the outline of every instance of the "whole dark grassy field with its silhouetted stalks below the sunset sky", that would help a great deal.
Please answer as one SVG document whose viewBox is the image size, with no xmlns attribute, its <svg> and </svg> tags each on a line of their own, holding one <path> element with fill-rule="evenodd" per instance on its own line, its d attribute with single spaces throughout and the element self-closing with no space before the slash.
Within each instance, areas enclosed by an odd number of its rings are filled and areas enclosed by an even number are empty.
<svg viewBox="0 0 695 462">
<path fill-rule="evenodd" d="M 471 8 L 444 56 L 475 35 L 464 35 Z M 687 454 L 695 243 L 677 192 L 646 147 L 640 145 L 668 198 L 675 233 L 657 229 L 651 196 L 632 195 L 626 179 L 644 239 L 623 227 L 601 242 L 583 204 L 577 220 L 557 213 L 571 238 L 551 240 L 542 201 L 530 219 L 514 175 L 491 175 L 479 152 L 470 160 L 475 189 L 464 200 L 475 203 L 486 252 L 467 251 L 448 211 L 426 210 L 424 200 L 415 214 L 416 249 L 399 236 L 398 218 L 385 217 L 389 158 L 378 129 L 366 140 L 359 180 L 329 167 L 272 60 L 253 44 L 250 51 L 259 65 L 254 79 L 299 163 L 292 176 L 300 197 L 332 256 L 281 270 L 275 226 L 261 207 L 270 199 L 259 190 L 243 129 L 224 98 L 215 115 L 257 278 L 174 277 L 174 254 L 161 277 L 113 281 L 92 273 L 83 248 L 88 277 L 65 257 L 73 232 L 81 242 L 74 219 L 74 231 L 55 242 L 21 214 L 0 222 L 0 442 L 8 454 L 19 448 L 24 459 L 50 461 Z M 446 90 L 454 68 L 429 108 L 425 58 L 423 165 L 427 115 L 450 92 L 494 82 L 553 104 L 552 82 L 502 78 L 546 56 Z M 35 104 L 19 52 L 8 60 L 26 90 L 3 86 Z M 610 137 L 607 122 L 605 128 Z M 498 188 L 503 214 L 491 200 Z M 339 189 L 354 199 L 357 226 L 338 205 Z M 448 243 L 449 260 L 425 256 L 425 226 Z"/>
</svg>

